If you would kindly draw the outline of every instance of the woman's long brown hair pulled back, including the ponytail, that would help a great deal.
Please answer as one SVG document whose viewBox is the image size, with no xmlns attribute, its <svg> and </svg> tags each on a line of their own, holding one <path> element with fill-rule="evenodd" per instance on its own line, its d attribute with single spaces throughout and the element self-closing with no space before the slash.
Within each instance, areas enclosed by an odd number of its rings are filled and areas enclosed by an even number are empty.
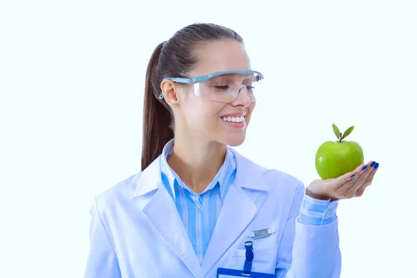
<svg viewBox="0 0 417 278">
<path fill-rule="evenodd" d="M 174 115 L 165 99 L 159 99 L 163 77 L 189 77 L 197 65 L 197 44 L 243 38 L 235 31 L 217 24 L 196 23 L 174 33 L 161 42 L 149 60 L 143 105 L 142 171 L 161 153 L 165 144 L 174 138 Z"/>
</svg>

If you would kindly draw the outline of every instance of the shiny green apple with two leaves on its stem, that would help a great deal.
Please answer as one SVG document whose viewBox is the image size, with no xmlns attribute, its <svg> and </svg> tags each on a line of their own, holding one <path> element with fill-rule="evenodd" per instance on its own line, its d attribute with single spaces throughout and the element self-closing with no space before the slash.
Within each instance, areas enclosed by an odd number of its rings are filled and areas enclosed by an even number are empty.
<svg viewBox="0 0 417 278">
<path fill-rule="evenodd" d="M 354 126 L 350 126 L 342 135 L 338 127 L 333 124 L 333 131 L 338 140 L 322 143 L 316 153 L 316 170 L 320 178 L 340 177 L 363 163 L 361 146 L 357 142 L 343 140 L 353 129 Z"/>
</svg>

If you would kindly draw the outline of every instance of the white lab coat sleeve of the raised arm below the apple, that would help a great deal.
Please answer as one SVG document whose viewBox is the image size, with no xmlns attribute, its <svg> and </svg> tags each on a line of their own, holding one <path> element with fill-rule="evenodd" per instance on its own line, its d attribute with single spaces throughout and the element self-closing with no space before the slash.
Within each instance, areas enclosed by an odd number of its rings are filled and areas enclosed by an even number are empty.
<svg viewBox="0 0 417 278">
<path fill-rule="evenodd" d="M 300 223 L 298 215 L 304 192 L 301 183 L 279 240 L 275 277 L 338 278 L 341 274 L 338 218 L 322 226 Z"/>
</svg>

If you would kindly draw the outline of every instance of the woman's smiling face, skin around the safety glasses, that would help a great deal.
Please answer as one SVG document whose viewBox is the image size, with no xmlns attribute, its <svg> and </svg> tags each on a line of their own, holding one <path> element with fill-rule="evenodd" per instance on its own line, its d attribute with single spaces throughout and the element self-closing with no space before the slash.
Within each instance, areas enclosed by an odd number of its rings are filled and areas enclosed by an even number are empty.
<svg viewBox="0 0 417 278">
<path fill-rule="evenodd" d="M 197 67 L 190 76 L 227 70 L 251 70 L 245 47 L 234 40 L 200 45 L 197 48 L 197 60 Z M 234 74 L 230 81 L 237 85 L 248 83 L 247 76 L 242 74 Z M 181 125 L 182 131 L 185 130 L 189 133 L 188 136 L 199 140 L 230 146 L 241 145 L 255 108 L 255 103 L 250 101 L 247 91 L 243 88 L 237 99 L 224 104 L 195 96 L 193 85 L 186 88 L 185 93 L 179 94 L 181 123 L 176 122 Z M 243 122 L 240 122 L 242 120 Z"/>
</svg>

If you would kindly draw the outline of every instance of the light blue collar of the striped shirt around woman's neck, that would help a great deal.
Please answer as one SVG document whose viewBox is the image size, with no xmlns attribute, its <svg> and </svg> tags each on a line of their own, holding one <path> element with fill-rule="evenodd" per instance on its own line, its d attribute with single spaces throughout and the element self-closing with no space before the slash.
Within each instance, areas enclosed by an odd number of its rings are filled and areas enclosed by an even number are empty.
<svg viewBox="0 0 417 278">
<path fill-rule="evenodd" d="M 193 192 L 188 186 L 181 181 L 181 178 L 178 176 L 174 170 L 168 165 L 167 160 L 172 155 L 172 152 L 174 151 L 174 139 L 171 139 L 165 144 L 165 147 L 162 151 L 162 157 L 161 157 L 161 173 L 165 175 L 165 178 L 167 179 L 167 183 L 165 187 L 169 185 L 169 188 L 167 190 L 171 190 L 171 197 L 175 200 L 175 190 L 174 186 L 181 186 L 182 188 L 185 188 L 189 192 Z M 234 154 L 231 152 L 229 147 L 227 147 L 227 153 L 226 157 L 224 159 L 224 163 L 222 167 L 220 167 L 220 170 L 215 175 L 213 181 L 208 184 L 208 186 L 203 190 L 202 193 L 206 193 L 206 191 L 213 189 L 217 184 L 219 184 L 220 189 L 220 198 L 222 201 L 224 201 L 224 189 L 227 187 L 226 184 L 228 178 L 233 174 L 233 172 L 236 170 L 236 160 L 234 157 Z M 164 179 L 163 179 L 164 180 Z"/>
</svg>

